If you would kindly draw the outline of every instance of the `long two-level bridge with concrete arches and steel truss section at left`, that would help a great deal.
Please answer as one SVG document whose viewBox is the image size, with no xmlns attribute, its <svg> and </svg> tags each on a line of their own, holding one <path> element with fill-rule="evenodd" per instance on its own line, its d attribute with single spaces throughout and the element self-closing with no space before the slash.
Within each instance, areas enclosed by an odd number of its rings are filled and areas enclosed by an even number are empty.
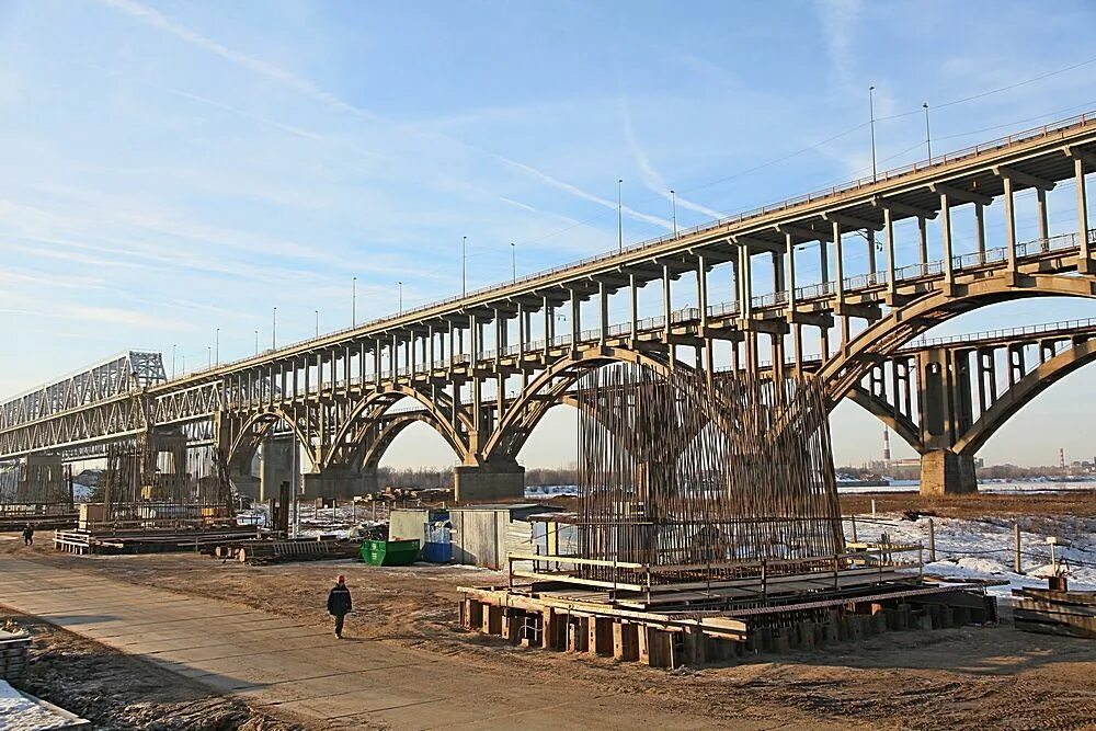
<svg viewBox="0 0 1096 731">
<path fill-rule="evenodd" d="M 998 302 L 1096 298 L 1093 170 L 1089 114 L 175 379 L 159 354 L 124 353 L 3 403 L 0 461 L 182 435 L 222 448 L 250 490 L 260 445 L 292 435 L 305 494 L 346 496 L 376 489 L 385 449 L 423 422 L 459 459 L 458 495 L 520 495 L 516 458 L 545 413 L 574 403 L 590 368 L 632 362 L 810 374 L 922 455 L 923 491 L 970 491 L 981 445 L 1096 358 L 1096 322 L 923 335 Z M 1063 182 L 1076 221 L 1052 232 Z M 903 236 L 917 261 L 895 260 Z M 660 313 L 641 317 L 655 294 Z"/>
</svg>

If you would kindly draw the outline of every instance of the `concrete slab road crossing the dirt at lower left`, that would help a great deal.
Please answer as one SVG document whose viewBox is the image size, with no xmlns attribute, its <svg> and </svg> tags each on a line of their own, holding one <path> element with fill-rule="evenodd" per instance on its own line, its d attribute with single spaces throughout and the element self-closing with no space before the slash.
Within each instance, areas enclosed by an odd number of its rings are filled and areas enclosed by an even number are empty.
<svg viewBox="0 0 1096 731">
<path fill-rule="evenodd" d="M 566 677 L 541 686 L 499 671 L 470 672 L 446 655 L 340 641 L 324 627 L 48 560 L 0 556 L 0 604 L 236 694 L 256 708 L 313 718 L 321 728 L 617 729 L 635 719 L 642 719 L 644 729 L 716 728 L 642 695 L 619 698 Z"/>
</svg>

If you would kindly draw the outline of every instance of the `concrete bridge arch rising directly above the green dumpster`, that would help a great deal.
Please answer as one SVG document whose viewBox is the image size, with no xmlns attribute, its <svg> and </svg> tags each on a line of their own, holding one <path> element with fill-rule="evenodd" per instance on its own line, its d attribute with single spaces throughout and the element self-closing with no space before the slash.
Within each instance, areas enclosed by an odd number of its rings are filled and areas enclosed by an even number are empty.
<svg viewBox="0 0 1096 731">
<path fill-rule="evenodd" d="M 403 414 L 386 414 L 406 398 L 414 399 L 422 409 L 406 412 L 406 419 L 402 418 Z M 470 433 L 471 420 L 464 409 L 458 408 L 457 424 L 454 424 L 446 416 L 446 411 L 453 412 L 453 400 L 445 393 L 437 395 L 437 400 L 433 400 L 410 386 L 396 386 L 387 391 L 370 393 L 347 414 L 346 421 L 331 442 L 331 449 L 322 466 L 364 466 L 369 464 L 369 455 L 373 453 L 376 453 L 376 461 L 379 461 L 396 436 L 416 421 L 433 427 L 457 457 L 465 461 L 469 449 L 459 427 L 464 427 L 465 434 Z"/>
</svg>

